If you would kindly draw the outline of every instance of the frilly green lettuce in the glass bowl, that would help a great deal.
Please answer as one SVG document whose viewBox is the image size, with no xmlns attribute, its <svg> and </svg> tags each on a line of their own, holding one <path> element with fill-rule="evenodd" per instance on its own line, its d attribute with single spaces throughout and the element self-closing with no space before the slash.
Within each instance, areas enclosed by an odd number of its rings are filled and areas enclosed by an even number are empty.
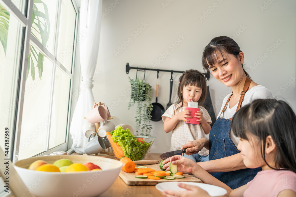
<svg viewBox="0 0 296 197">
<path fill-rule="evenodd" d="M 151 142 L 137 139 L 128 128 L 124 130 L 121 126 L 112 131 L 111 135 L 113 142 L 117 142 L 123 149 L 124 156 L 132 161 L 142 160 L 151 145 Z"/>
</svg>

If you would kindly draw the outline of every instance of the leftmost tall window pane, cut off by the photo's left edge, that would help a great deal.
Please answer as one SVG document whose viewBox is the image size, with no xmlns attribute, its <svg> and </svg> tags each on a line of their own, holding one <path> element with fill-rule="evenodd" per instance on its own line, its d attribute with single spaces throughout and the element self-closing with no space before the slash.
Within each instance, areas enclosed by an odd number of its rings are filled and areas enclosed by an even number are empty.
<svg viewBox="0 0 296 197">
<path fill-rule="evenodd" d="M 22 53 L 23 27 L 18 20 L 0 5 L 0 147 L 12 154 L 12 132 L 16 109 L 17 82 Z M 4 136 L 8 128 L 8 136 Z M 9 139 L 5 138 L 8 137 Z M 5 140 L 8 140 L 9 144 Z M 6 145 L 6 146 L 5 146 Z"/>
</svg>

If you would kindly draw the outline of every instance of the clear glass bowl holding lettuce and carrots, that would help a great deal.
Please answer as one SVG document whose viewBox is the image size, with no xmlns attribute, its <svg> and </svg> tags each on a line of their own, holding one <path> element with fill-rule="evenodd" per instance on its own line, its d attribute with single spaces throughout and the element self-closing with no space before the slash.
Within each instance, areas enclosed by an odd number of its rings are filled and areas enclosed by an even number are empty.
<svg viewBox="0 0 296 197">
<path fill-rule="evenodd" d="M 106 135 L 106 137 L 115 159 L 120 160 L 122 157 L 128 157 L 132 161 L 144 160 L 156 138 L 151 136 L 119 137 L 110 135 Z M 116 141 L 114 142 L 112 138 Z"/>
</svg>

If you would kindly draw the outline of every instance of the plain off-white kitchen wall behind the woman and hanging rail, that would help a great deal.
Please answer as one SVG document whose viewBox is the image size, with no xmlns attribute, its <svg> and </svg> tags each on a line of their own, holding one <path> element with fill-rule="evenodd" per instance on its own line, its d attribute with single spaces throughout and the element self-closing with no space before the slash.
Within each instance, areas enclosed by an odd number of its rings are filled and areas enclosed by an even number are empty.
<svg viewBox="0 0 296 197">
<path fill-rule="evenodd" d="M 112 10 L 108 12 L 108 8 Z M 295 10 L 294 0 L 104 0 L 93 88 L 95 100 L 105 102 L 109 109 L 113 108 L 111 115 L 119 117 L 123 123 L 135 128 L 136 110 L 128 110 L 129 94 L 126 94 L 126 91 L 130 88 L 128 76 L 135 78 L 136 70 L 126 74 L 126 63 L 133 67 L 152 68 L 156 58 L 168 50 L 170 54 L 155 68 L 202 71 L 201 58 L 204 47 L 212 38 L 226 35 L 232 36 L 244 52 L 247 72 L 252 79 L 267 87 L 273 95 L 278 94 L 279 98 L 287 100 L 295 110 Z M 205 12 L 209 14 L 206 15 Z M 203 14 L 205 18 L 201 19 Z M 142 26 L 143 23 L 147 26 Z M 133 32 L 141 27 L 143 30 L 135 36 Z M 234 37 L 232 34 L 236 33 L 238 36 Z M 184 40 L 172 51 L 170 45 L 177 41 L 180 35 L 184 36 Z M 128 38 L 131 38 L 132 42 L 115 55 L 114 51 L 117 51 L 118 46 Z M 278 42 L 280 45 L 276 44 L 278 39 L 283 40 Z M 274 44 L 277 48 L 270 51 L 269 47 Z M 260 57 L 264 56 L 264 53 L 266 58 L 260 63 Z M 254 61 L 259 61 L 260 64 L 254 66 Z M 142 77 L 143 73 L 138 76 Z M 180 74 L 173 76 L 174 92 L 179 76 Z M 160 72 L 158 101 L 163 106 L 168 102 L 169 79 L 170 73 Z M 156 72 L 147 71 L 145 80 L 153 87 L 154 102 Z M 214 78 L 211 78 L 208 84 L 217 114 L 223 95 L 227 94 L 229 88 Z M 152 126 L 151 135 L 157 138 L 151 152 L 168 151 L 171 134 L 163 131 L 162 121 L 152 122 Z"/>
</svg>

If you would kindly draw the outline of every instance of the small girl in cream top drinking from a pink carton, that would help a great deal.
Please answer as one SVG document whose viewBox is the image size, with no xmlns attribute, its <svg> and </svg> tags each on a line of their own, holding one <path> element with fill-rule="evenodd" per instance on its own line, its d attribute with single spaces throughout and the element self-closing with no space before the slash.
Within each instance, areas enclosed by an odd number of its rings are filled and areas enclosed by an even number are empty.
<svg viewBox="0 0 296 197">
<path fill-rule="evenodd" d="M 205 138 L 205 134 L 210 133 L 212 123 L 207 110 L 200 106 L 205 101 L 207 95 L 207 84 L 205 76 L 197 70 L 187 70 L 179 78 L 178 102 L 171 105 L 162 115 L 164 121 L 163 127 L 166 133 L 173 131 L 170 150 L 178 150 L 188 141 Z M 196 118 L 199 118 L 199 124 L 185 124 L 189 122 L 186 118 L 190 116 L 190 110 L 185 110 L 188 102 L 198 102 L 200 111 L 194 112 Z M 191 123 L 191 122 L 189 122 Z M 209 151 L 205 148 L 197 154 L 186 155 L 195 162 L 208 161 Z"/>
</svg>

